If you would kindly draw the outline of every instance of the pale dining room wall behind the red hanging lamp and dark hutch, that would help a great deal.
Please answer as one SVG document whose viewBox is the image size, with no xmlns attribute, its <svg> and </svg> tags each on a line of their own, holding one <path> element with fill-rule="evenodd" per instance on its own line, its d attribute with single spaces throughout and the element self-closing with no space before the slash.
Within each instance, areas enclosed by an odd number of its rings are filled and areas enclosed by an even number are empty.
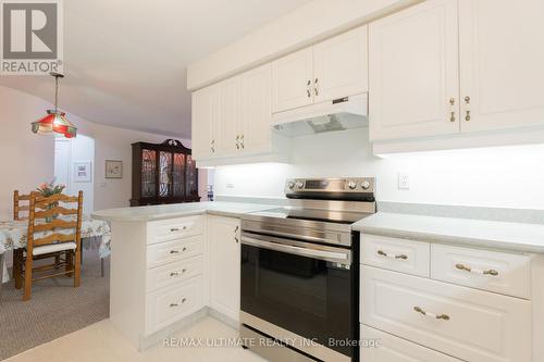
<svg viewBox="0 0 544 362">
<path fill-rule="evenodd" d="M 30 133 L 30 123 L 50 108 L 42 99 L 0 86 L 0 220 L 12 216 L 13 190 L 28 192 L 53 178 L 54 138 Z M 95 139 L 95 210 L 127 207 L 132 188 L 131 143 L 160 142 L 170 137 L 100 125 L 70 112 L 67 117 L 79 134 Z M 190 147 L 189 141 L 182 141 Z M 106 160 L 123 161 L 122 179 L 104 178 Z"/>
</svg>

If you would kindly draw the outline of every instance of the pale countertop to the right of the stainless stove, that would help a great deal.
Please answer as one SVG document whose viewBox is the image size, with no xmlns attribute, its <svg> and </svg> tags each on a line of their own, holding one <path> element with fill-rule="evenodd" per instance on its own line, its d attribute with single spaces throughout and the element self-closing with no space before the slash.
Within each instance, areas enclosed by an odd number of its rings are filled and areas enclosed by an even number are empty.
<svg viewBox="0 0 544 362">
<path fill-rule="evenodd" d="M 364 234 L 544 253 L 544 225 L 379 212 L 353 225 Z"/>
</svg>

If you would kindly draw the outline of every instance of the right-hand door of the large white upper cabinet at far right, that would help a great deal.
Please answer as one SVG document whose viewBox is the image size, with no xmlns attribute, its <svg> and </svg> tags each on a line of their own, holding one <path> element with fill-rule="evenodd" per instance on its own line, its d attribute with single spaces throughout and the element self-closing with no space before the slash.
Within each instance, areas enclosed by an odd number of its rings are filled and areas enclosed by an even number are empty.
<svg viewBox="0 0 544 362">
<path fill-rule="evenodd" d="M 461 129 L 543 125 L 544 1 L 459 7 Z"/>
</svg>

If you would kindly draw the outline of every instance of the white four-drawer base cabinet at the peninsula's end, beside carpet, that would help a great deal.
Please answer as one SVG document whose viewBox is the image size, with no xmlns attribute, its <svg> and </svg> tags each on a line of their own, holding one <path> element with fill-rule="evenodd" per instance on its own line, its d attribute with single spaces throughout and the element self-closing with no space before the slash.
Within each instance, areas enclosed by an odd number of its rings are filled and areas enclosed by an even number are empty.
<svg viewBox="0 0 544 362">
<path fill-rule="evenodd" d="M 111 223 L 110 321 L 136 348 L 206 313 L 205 225 L 205 215 Z"/>
</svg>

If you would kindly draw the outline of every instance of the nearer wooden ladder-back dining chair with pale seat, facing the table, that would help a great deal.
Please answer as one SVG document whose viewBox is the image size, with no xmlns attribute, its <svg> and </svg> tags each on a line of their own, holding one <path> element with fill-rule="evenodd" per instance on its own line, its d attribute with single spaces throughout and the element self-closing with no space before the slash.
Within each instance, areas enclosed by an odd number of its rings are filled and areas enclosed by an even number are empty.
<svg viewBox="0 0 544 362">
<path fill-rule="evenodd" d="M 70 209 L 70 204 L 77 207 Z M 18 284 L 24 280 L 23 300 L 30 299 L 32 284 L 36 280 L 65 275 L 74 277 L 74 287 L 79 286 L 82 213 L 83 191 L 79 191 L 77 197 L 62 194 L 50 197 L 35 194 L 30 196 L 27 244 L 18 265 L 13 267 L 14 274 L 17 273 L 15 278 Z M 58 253 L 61 253 L 62 258 L 58 259 Z M 37 260 L 50 258 L 54 259 L 51 264 L 34 265 Z M 62 269 L 62 272 L 58 272 Z"/>
</svg>

